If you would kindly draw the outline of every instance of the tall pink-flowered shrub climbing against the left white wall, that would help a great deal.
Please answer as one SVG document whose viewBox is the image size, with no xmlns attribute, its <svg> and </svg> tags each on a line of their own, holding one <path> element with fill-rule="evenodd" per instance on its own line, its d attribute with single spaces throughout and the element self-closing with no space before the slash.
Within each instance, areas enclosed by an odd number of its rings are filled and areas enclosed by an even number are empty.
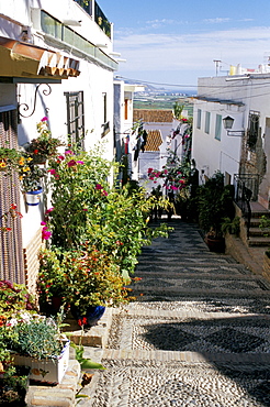
<svg viewBox="0 0 270 407">
<path fill-rule="evenodd" d="M 47 231 L 54 245 L 80 248 L 86 237 L 87 213 L 106 199 L 111 163 L 100 152 L 75 155 L 66 151 L 50 162 L 48 169 L 54 210 L 46 213 Z"/>
</svg>

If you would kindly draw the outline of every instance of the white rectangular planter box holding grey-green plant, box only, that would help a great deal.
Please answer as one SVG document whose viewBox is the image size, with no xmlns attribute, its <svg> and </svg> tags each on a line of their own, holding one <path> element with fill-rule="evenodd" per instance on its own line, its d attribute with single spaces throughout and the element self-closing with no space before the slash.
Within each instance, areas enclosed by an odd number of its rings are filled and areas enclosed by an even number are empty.
<svg viewBox="0 0 270 407">
<path fill-rule="evenodd" d="M 61 353 L 54 360 L 36 360 L 30 356 L 14 355 L 14 364 L 19 366 L 30 366 L 30 380 L 47 384 L 58 384 L 61 382 L 69 361 L 69 344 L 66 342 Z"/>
</svg>

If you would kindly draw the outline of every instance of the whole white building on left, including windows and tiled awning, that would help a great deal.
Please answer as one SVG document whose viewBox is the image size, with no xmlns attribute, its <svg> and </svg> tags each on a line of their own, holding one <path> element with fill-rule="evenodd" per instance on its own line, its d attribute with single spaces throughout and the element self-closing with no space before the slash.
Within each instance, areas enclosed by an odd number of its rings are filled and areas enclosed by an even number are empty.
<svg viewBox="0 0 270 407">
<path fill-rule="evenodd" d="M 0 0 L 0 146 L 34 139 L 46 116 L 54 138 L 85 150 L 104 141 L 105 156 L 114 157 L 113 26 L 94 0 L 80 3 Z M 0 238 L 0 278 L 30 286 L 44 206 L 27 207 L 19 185 L 2 182 L 0 189 L 1 213 L 15 202 L 23 215 L 15 243 L 8 233 Z"/>
</svg>

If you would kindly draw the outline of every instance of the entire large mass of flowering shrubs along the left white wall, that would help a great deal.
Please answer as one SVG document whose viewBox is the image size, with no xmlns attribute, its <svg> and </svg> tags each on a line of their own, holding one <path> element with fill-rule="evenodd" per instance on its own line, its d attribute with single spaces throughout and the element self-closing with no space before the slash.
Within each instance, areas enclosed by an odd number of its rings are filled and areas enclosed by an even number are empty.
<svg viewBox="0 0 270 407">
<path fill-rule="evenodd" d="M 70 150 L 50 165 L 53 207 L 43 233 L 52 233 L 52 245 L 41 253 L 42 300 L 58 296 L 80 311 L 125 301 L 142 246 L 167 235 L 166 226 L 147 227 L 155 198 L 146 199 L 143 189 L 110 187 L 112 164 L 99 150 L 79 155 Z"/>
</svg>

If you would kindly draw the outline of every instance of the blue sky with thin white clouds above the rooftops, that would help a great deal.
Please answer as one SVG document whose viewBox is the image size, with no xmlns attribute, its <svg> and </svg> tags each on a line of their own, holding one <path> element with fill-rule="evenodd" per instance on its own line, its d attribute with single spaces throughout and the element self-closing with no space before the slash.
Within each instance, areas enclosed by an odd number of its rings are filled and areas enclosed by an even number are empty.
<svg viewBox="0 0 270 407">
<path fill-rule="evenodd" d="M 98 0 L 114 23 L 116 75 L 157 84 L 196 85 L 230 65 L 257 68 L 270 56 L 270 1 Z"/>
</svg>

